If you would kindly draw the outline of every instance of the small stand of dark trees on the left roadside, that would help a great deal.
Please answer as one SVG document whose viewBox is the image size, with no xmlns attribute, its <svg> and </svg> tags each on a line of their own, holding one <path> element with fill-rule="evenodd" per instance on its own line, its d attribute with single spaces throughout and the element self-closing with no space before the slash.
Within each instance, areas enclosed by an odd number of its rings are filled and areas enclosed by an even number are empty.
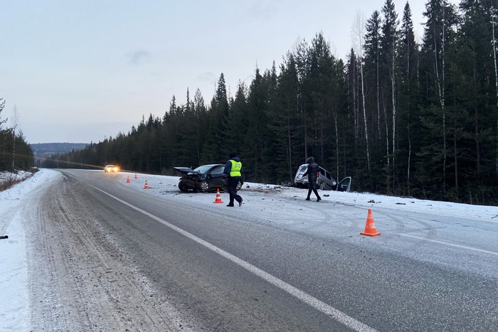
<svg viewBox="0 0 498 332">
<path fill-rule="evenodd" d="M 0 116 L 4 110 L 5 100 L 0 98 Z M 17 128 L 17 111 L 14 108 L 14 125 L 6 127 L 6 119 L 0 117 L 0 171 L 28 171 L 33 165 L 33 151 L 23 132 Z"/>
</svg>

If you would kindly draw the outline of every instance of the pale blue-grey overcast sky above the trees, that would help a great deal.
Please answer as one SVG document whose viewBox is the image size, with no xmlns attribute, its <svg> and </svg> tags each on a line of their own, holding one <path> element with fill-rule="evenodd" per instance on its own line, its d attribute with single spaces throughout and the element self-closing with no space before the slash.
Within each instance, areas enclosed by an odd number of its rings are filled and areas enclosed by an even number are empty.
<svg viewBox="0 0 498 332">
<path fill-rule="evenodd" d="M 29 143 L 98 142 L 162 117 L 201 90 L 211 101 L 223 73 L 229 92 L 248 84 L 322 31 L 335 55 L 352 47 L 359 12 L 385 0 L 2 0 L 0 119 Z M 394 0 L 398 18 L 406 0 Z M 410 0 L 418 37 L 425 0 Z M 457 3 L 453 0 L 452 3 Z"/>
</svg>

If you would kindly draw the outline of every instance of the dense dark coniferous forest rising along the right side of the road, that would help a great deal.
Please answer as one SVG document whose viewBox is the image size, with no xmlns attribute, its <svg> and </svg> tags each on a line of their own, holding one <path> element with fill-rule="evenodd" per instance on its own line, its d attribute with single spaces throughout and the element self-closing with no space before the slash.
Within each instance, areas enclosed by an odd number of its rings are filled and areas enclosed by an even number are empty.
<svg viewBox="0 0 498 332">
<path fill-rule="evenodd" d="M 409 4 L 386 0 L 356 17 L 345 63 L 317 33 L 235 95 L 222 73 L 211 101 L 187 89 L 185 105 L 173 97 L 160 117 L 55 162 L 174 174 L 237 151 L 245 181 L 292 183 L 314 156 L 353 191 L 496 205 L 497 2 L 428 0 L 416 41 Z"/>
</svg>

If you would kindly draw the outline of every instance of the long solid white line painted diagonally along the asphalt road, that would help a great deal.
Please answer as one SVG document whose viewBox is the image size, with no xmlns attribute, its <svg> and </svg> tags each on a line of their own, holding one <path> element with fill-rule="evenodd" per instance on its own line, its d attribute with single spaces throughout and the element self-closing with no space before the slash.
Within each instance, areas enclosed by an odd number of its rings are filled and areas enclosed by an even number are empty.
<svg viewBox="0 0 498 332">
<path fill-rule="evenodd" d="M 320 301 L 319 299 L 304 293 L 304 291 L 301 291 L 300 289 L 297 289 L 296 287 L 293 287 L 290 284 L 287 284 L 287 282 L 284 282 L 276 277 L 273 277 L 271 274 L 263 271 L 262 269 L 259 269 L 258 267 L 255 267 L 253 264 L 249 264 L 248 262 L 245 262 L 245 260 L 240 259 L 225 250 L 222 250 L 221 248 L 216 247 L 216 245 L 211 245 L 211 243 L 206 242 L 202 240 L 200 237 L 196 237 L 195 235 L 186 232 L 186 230 L 182 230 L 180 227 L 176 227 L 175 225 L 172 225 L 171 223 L 168 223 L 166 220 L 162 220 L 159 217 L 156 217 L 155 215 L 152 215 L 151 213 L 148 213 L 147 211 L 142 210 L 141 208 L 137 208 L 136 206 L 129 204 L 125 202 L 124 200 L 121 200 L 120 198 L 117 198 L 116 196 L 112 196 L 110 193 L 107 193 L 105 191 L 102 191 L 102 189 L 99 189 L 95 186 L 89 185 L 92 188 L 95 188 L 97 191 L 100 191 L 102 193 L 105 193 L 105 195 L 110 196 L 111 198 L 114 198 L 120 203 L 123 203 L 124 205 L 129 206 L 130 208 L 137 210 L 139 213 L 143 213 L 144 215 L 147 215 L 147 217 L 152 218 L 154 220 L 157 220 L 159 223 L 166 225 L 167 227 L 170 227 L 172 230 L 175 230 L 176 232 L 179 232 L 181 235 L 184 235 L 186 237 L 189 237 L 189 239 L 194 240 L 195 242 L 207 247 L 209 250 L 212 250 L 213 252 L 216 252 L 218 255 L 221 255 L 225 257 L 226 259 L 230 259 L 232 262 L 235 264 L 238 264 L 240 267 L 243 267 L 244 269 L 247 269 L 249 272 L 252 272 L 253 274 L 257 275 L 258 277 L 266 280 L 267 282 L 270 282 L 270 284 L 275 285 L 276 287 L 287 291 L 292 296 L 295 296 L 297 299 L 300 299 L 303 301 L 305 304 L 309 304 L 309 306 L 312 306 L 314 309 L 317 309 L 318 311 L 321 311 L 324 314 L 327 314 L 329 316 L 332 316 L 336 321 L 339 321 L 339 323 L 342 323 L 343 325 L 351 328 L 354 331 L 358 332 L 376 332 L 376 329 L 371 328 L 370 326 L 361 323 L 361 321 L 357 321 L 351 316 L 348 316 L 344 314 L 342 311 L 339 311 L 338 309 L 335 309 L 332 306 L 329 306 L 328 304 Z"/>
</svg>

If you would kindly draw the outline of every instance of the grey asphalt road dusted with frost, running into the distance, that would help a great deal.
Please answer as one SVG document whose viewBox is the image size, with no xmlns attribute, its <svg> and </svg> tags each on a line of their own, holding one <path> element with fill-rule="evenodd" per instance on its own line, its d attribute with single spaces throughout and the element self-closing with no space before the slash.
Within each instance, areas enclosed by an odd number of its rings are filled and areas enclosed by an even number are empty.
<svg viewBox="0 0 498 332">
<path fill-rule="evenodd" d="M 497 223 L 377 210 L 396 235 L 373 240 L 354 205 L 319 205 L 325 231 L 62 172 L 31 230 L 38 328 L 498 331 Z"/>
</svg>

